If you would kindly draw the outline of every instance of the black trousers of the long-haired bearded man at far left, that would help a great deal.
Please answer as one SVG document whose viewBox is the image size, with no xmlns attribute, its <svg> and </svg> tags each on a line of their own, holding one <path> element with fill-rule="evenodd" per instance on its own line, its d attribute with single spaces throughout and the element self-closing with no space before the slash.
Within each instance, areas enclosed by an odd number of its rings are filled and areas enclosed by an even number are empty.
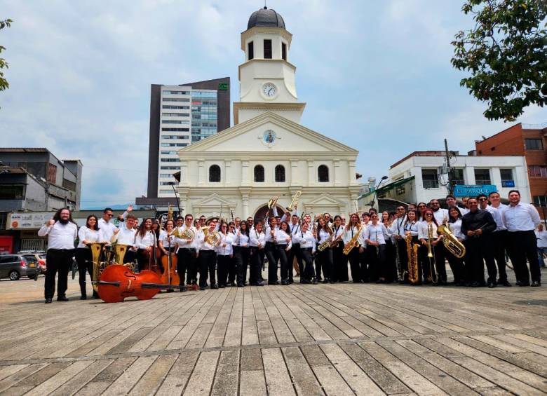
<svg viewBox="0 0 547 396">
<path fill-rule="evenodd" d="M 48 271 L 46 271 L 46 282 L 43 285 L 43 294 L 46 299 L 53 299 L 53 295 L 55 294 L 55 275 L 57 273 L 59 273 L 57 296 L 65 296 L 72 257 L 74 257 L 74 249 L 48 249 L 46 254 Z"/>
</svg>

